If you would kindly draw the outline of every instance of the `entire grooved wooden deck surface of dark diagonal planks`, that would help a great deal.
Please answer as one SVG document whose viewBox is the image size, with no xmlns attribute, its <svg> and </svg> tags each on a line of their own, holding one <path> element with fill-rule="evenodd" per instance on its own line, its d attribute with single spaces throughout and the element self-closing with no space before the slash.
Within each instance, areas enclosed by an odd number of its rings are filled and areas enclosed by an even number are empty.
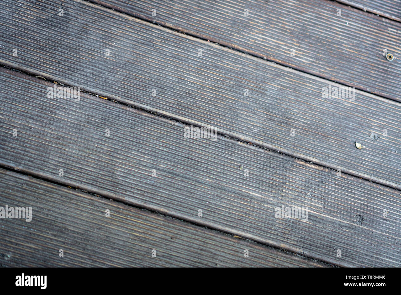
<svg viewBox="0 0 401 295">
<path fill-rule="evenodd" d="M 400 267 L 399 1 L 361 3 L 0 2 L 0 266 Z"/>
</svg>

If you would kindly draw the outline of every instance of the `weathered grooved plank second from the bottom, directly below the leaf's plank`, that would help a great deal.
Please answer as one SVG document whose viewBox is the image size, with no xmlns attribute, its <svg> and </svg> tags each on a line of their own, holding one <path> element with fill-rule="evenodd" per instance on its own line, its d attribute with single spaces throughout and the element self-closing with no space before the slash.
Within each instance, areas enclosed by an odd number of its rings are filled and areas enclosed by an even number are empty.
<svg viewBox="0 0 401 295">
<path fill-rule="evenodd" d="M 102 98 L 48 98 L 51 83 L 0 73 L 3 166 L 342 266 L 401 265 L 400 191 L 222 136 L 185 138 L 179 122 Z M 308 218 L 278 218 L 282 205 Z"/>
</svg>

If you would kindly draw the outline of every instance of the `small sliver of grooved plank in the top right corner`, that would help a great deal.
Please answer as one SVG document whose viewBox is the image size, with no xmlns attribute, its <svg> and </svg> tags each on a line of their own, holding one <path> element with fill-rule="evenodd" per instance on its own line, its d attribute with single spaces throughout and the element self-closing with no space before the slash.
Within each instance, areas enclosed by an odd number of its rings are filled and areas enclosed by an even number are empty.
<svg viewBox="0 0 401 295">
<path fill-rule="evenodd" d="M 338 2 L 401 21 L 400 0 L 338 0 Z"/>
</svg>

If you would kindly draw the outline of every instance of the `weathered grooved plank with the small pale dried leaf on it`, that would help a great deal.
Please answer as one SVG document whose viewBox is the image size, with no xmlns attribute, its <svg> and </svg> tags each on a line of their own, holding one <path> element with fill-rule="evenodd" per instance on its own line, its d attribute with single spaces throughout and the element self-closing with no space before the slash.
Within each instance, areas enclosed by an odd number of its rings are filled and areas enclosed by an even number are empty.
<svg viewBox="0 0 401 295">
<path fill-rule="evenodd" d="M 58 5 L 1 2 L 0 63 L 401 189 L 401 104 L 324 98 L 326 80 L 87 2 L 55 16 Z"/>
</svg>

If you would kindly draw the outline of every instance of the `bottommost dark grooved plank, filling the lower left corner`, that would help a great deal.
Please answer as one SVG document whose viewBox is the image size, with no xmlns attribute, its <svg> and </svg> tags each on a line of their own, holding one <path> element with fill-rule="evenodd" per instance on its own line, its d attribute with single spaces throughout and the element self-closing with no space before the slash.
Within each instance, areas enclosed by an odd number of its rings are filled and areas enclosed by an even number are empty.
<svg viewBox="0 0 401 295">
<path fill-rule="evenodd" d="M 32 220 L 0 219 L 2 267 L 329 266 L 0 169 L 0 207 L 5 205 L 31 208 Z"/>
</svg>

